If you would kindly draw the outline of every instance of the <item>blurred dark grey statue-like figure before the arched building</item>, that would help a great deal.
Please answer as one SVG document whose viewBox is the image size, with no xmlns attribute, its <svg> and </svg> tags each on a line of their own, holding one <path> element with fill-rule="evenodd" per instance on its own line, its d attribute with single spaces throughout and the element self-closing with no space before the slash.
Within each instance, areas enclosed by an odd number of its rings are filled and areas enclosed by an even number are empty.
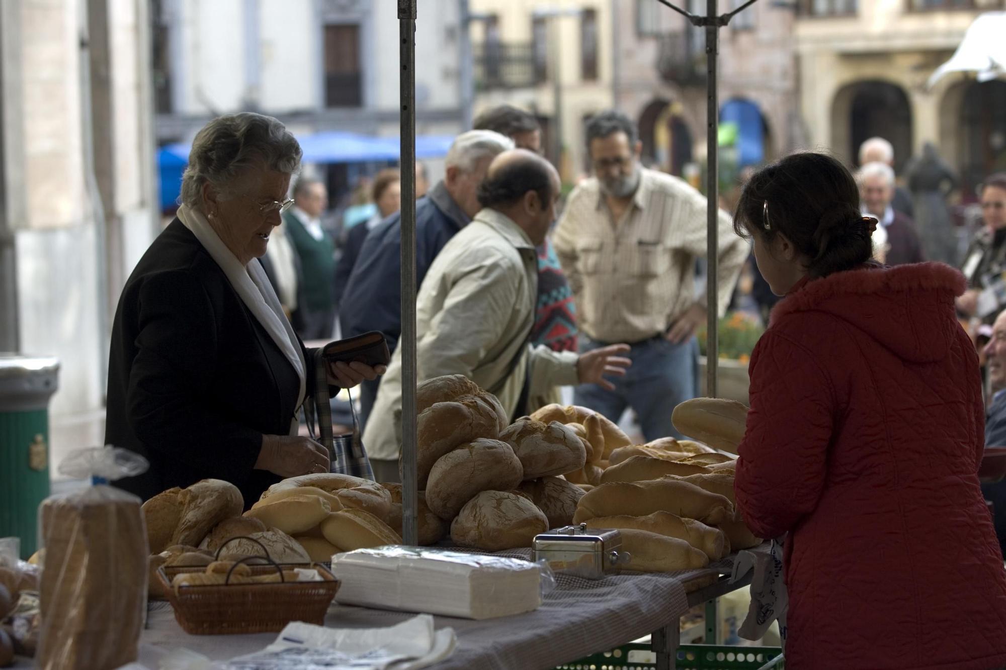
<svg viewBox="0 0 1006 670">
<path fill-rule="evenodd" d="M 957 226 L 947 206 L 947 196 L 957 188 L 957 175 L 940 158 L 932 142 L 923 145 L 921 157 L 912 161 L 907 182 L 914 196 L 915 227 L 923 242 L 923 254 L 930 261 L 957 267 Z"/>
</svg>

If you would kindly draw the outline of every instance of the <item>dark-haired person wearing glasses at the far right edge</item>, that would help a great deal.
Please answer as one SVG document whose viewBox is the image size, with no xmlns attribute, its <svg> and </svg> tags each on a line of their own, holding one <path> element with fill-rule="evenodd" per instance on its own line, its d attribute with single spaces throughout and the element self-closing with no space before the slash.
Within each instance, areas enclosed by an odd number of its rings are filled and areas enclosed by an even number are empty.
<svg viewBox="0 0 1006 670">
<path fill-rule="evenodd" d="M 997 305 L 984 304 L 988 301 L 980 305 L 979 296 L 1006 271 L 1006 172 L 991 175 L 979 192 L 983 227 L 964 256 L 961 272 L 968 280 L 968 291 L 957 299 L 957 307 L 965 316 L 979 317 L 989 323 L 998 311 Z"/>
</svg>

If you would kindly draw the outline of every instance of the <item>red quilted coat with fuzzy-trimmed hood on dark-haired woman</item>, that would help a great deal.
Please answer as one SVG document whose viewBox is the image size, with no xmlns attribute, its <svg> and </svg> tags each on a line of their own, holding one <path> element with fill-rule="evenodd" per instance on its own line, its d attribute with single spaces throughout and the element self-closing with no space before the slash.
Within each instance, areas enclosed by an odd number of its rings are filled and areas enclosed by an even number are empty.
<svg viewBox="0 0 1006 670">
<path fill-rule="evenodd" d="M 789 532 L 786 666 L 1006 666 L 978 357 L 935 264 L 802 282 L 750 361 L 737 506 Z"/>
</svg>

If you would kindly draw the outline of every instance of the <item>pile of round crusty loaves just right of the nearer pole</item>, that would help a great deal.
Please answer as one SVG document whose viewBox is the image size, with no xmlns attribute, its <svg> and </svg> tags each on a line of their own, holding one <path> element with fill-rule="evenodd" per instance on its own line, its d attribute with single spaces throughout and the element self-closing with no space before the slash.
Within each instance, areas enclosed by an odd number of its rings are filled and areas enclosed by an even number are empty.
<svg viewBox="0 0 1006 670">
<path fill-rule="evenodd" d="M 455 544 L 485 551 L 527 547 L 571 523 L 611 454 L 631 444 L 583 407 L 551 404 L 510 425 L 496 397 L 463 375 L 425 381 L 416 405 L 421 512 L 440 521 L 437 534 L 450 529 Z M 424 521 L 421 542 L 434 535 L 424 537 Z"/>
</svg>

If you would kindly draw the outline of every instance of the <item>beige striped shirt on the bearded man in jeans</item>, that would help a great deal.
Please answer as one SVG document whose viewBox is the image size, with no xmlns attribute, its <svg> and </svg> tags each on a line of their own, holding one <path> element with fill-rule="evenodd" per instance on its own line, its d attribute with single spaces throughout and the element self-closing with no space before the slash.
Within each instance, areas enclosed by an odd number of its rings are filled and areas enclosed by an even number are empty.
<svg viewBox="0 0 1006 670">
<path fill-rule="evenodd" d="M 576 299 L 580 329 L 602 342 L 640 342 L 665 332 L 696 302 L 695 262 L 706 256 L 706 197 L 677 177 L 643 169 L 632 203 L 616 221 L 591 178 L 569 195 L 552 242 Z M 720 315 L 747 255 L 747 242 L 720 210 Z"/>
</svg>

